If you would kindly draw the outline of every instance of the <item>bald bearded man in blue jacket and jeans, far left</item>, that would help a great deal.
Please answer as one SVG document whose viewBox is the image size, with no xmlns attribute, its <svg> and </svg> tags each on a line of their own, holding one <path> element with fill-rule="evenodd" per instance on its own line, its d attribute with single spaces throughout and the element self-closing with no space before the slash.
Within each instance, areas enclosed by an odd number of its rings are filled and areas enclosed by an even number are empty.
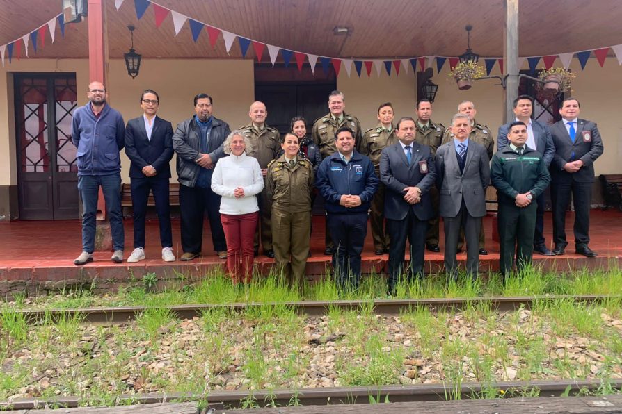
<svg viewBox="0 0 622 414">
<path fill-rule="evenodd" d="M 99 187 L 106 200 L 114 263 L 123 261 L 123 217 L 121 214 L 121 160 L 119 152 L 125 145 L 125 122 L 117 110 L 106 104 L 104 84 L 88 85 L 88 104 L 74 110 L 71 138 L 77 148 L 78 191 L 82 199 L 82 253 L 75 265 L 93 261 L 95 250 L 95 218 Z"/>
</svg>

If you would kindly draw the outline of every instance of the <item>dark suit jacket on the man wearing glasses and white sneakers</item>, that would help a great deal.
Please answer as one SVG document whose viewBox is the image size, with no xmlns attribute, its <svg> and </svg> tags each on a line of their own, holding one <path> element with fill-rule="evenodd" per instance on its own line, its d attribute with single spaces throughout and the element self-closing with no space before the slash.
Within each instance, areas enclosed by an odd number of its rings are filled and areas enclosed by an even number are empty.
<svg viewBox="0 0 622 414">
<path fill-rule="evenodd" d="M 147 138 L 145 118 L 130 119 L 125 128 L 125 154 L 131 161 L 130 178 L 143 178 L 143 167 L 151 165 L 157 176 L 170 178 L 170 160 L 173 158 L 173 126 L 156 116 L 153 121 L 151 140 Z"/>
</svg>

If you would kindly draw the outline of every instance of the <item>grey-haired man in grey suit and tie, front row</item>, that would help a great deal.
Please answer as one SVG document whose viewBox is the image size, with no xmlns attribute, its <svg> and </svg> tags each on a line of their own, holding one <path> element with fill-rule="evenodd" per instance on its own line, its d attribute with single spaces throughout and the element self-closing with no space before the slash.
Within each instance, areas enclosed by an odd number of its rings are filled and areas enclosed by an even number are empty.
<svg viewBox="0 0 622 414">
<path fill-rule="evenodd" d="M 491 169 L 486 148 L 469 140 L 468 115 L 454 115 L 451 129 L 454 138 L 436 151 L 436 185 L 445 228 L 445 272 L 455 279 L 461 227 L 465 229 L 466 271 L 475 277 L 479 270 L 479 231 L 481 217 L 486 215 L 486 188 Z"/>
</svg>

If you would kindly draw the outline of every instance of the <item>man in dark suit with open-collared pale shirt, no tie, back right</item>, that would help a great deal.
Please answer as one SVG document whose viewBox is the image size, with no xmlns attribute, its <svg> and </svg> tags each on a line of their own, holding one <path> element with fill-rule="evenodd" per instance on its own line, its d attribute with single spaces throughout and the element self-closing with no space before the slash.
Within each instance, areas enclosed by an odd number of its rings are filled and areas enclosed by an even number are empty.
<svg viewBox="0 0 622 414">
<path fill-rule="evenodd" d="M 544 163 L 548 168 L 555 155 L 555 145 L 551 131 L 547 124 L 532 119 L 534 112 L 534 101 L 529 95 L 520 95 L 514 99 L 514 115 L 516 121 L 524 122 L 527 125 L 527 147 L 535 149 L 542 154 Z M 505 148 L 508 143 L 507 133 L 511 122 L 499 127 L 499 135 L 497 137 L 497 151 Z M 544 238 L 544 193 L 538 196 L 536 209 L 536 231 L 534 233 L 534 251 L 544 256 L 555 256 L 555 254 L 547 247 Z"/>
</svg>

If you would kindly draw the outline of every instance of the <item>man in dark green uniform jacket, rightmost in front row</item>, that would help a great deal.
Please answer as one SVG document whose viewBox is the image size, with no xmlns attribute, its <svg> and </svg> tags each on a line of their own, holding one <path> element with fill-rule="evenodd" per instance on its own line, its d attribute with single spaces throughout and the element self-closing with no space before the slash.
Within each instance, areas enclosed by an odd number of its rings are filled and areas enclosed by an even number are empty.
<svg viewBox="0 0 622 414">
<path fill-rule="evenodd" d="M 542 154 L 525 145 L 527 125 L 509 125 L 509 143 L 493 156 L 491 182 L 499 199 L 499 270 L 508 276 L 514 263 L 520 272 L 532 262 L 536 231 L 536 199 L 550 176 Z"/>
</svg>

